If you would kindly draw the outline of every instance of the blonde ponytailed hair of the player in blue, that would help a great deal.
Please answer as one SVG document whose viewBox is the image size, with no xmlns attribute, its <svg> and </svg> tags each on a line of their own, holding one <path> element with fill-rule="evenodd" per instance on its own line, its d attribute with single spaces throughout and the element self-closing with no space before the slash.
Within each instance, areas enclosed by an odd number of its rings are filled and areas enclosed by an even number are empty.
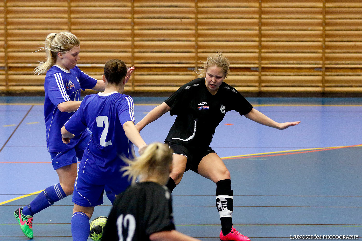
<svg viewBox="0 0 362 241">
<path fill-rule="evenodd" d="M 70 32 L 50 33 L 45 38 L 45 61 L 39 61 L 39 66 L 34 69 L 34 74 L 42 74 L 47 72 L 56 62 L 58 52 L 66 53 L 73 47 L 79 46 L 79 39 Z"/>
</svg>

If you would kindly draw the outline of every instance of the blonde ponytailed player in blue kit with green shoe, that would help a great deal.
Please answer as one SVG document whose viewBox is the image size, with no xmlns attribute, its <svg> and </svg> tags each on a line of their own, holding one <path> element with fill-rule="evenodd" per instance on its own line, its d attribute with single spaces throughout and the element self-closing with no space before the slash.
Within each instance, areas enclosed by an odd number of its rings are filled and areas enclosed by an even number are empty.
<svg viewBox="0 0 362 241">
<path fill-rule="evenodd" d="M 44 115 L 46 143 L 53 168 L 59 176 L 59 183 L 39 193 L 29 205 L 14 212 L 22 232 L 33 238 L 33 215 L 51 206 L 54 202 L 73 193 L 77 176 L 77 158 L 80 160 L 90 132 L 79 133 L 69 145 L 62 142 L 60 128 L 68 121 L 81 103 L 80 90 L 102 91 L 105 84 L 83 73 L 78 66 L 80 41 L 70 32 L 51 33 L 45 39 L 45 62 L 35 68 L 35 74 L 46 72 L 44 89 Z M 114 197 L 114 194 L 113 194 Z M 114 197 L 115 198 L 115 197 Z"/>
</svg>

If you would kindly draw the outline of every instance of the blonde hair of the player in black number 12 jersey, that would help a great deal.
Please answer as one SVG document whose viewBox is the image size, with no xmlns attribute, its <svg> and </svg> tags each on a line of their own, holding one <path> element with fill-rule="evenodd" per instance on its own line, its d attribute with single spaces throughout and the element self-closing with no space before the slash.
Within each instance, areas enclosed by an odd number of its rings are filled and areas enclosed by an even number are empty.
<svg viewBox="0 0 362 241">
<path fill-rule="evenodd" d="M 134 184 L 138 176 L 148 177 L 165 173 L 172 164 L 172 151 L 165 144 L 153 142 L 134 161 L 125 161 L 130 165 L 123 167 L 121 170 L 125 171 L 124 176 L 129 175 L 129 179 Z"/>
</svg>

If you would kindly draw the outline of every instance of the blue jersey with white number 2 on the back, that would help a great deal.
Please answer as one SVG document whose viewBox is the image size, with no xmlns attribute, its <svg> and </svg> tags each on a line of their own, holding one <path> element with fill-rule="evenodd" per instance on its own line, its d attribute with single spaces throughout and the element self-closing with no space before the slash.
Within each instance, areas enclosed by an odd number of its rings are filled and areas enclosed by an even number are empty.
<svg viewBox="0 0 362 241">
<path fill-rule="evenodd" d="M 133 143 L 122 127 L 127 121 L 135 122 L 131 96 L 118 92 L 85 96 L 79 109 L 65 124 L 68 132 L 75 135 L 87 127 L 92 132 L 79 172 L 98 177 L 119 172 L 124 165 L 121 157 L 134 157 Z"/>
</svg>

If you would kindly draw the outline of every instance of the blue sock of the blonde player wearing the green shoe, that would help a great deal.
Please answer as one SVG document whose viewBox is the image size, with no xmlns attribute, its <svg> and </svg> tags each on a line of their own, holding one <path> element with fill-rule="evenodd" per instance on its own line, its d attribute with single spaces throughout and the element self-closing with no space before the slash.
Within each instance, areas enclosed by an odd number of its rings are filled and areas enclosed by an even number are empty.
<svg viewBox="0 0 362 241">
<path fill-rule="evenodd" d="M 21 213 L 23 215 L 33 216 L 66 196 L 67 195 L 64 193 L 60 183 L 47 187 L 44 191 L 39 193 L 28 206 L 25 206 Z"/>
</svg>

